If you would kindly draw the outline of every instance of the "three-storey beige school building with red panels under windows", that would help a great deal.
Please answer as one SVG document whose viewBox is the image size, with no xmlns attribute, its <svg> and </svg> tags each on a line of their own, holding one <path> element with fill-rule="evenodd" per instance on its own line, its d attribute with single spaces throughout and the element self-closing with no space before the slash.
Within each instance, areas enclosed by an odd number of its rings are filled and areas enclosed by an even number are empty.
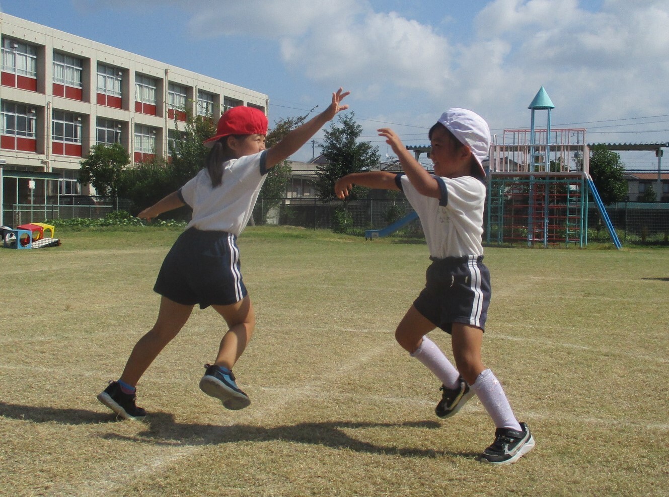
<svg viewBox="0 0 669 497">
<path fill-rule="evenodd" d="M 1 12 L 0 35 L 0 224 L 17 206 L 94 193 L 77 178 L 95 144 L 167 158 L 186 112 L 268 113 L 266 94 Z"/>
</svg>

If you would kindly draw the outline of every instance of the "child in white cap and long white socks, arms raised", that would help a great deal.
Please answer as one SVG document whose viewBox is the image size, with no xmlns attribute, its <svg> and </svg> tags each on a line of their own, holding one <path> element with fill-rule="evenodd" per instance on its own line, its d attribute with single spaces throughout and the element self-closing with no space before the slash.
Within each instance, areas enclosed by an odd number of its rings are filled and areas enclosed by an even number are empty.
<svg viewBox="0 0 669 497">
<path fill-rule="evenodd" d="M 486 199 L 483 161 L 490 130 L 474 112 L 452 108 L 429 130 L 434 175 L 427 173 L 389 128 L 379 136 L 397 154 L 404 173 L 369 171 L 346 175 L 335 183 L 344 199 L 353 185 L 403 191 L 425 232 L 432 264 L 425 288 L 395 330 L 397 342 L 442 382 L 436 414 L 456 414 L 474 393 L 496 426 L 495 439 L 482 462 L 510 464 L 530 452 L 535 441 L 518 423 L 502 385 L 482 363 L 481 343 L 490 303 L 490 274 L 483 264 L 483 209 Z M 451 335 L 456 367 L 426 334 L 441 328 Z"/>
</svg>

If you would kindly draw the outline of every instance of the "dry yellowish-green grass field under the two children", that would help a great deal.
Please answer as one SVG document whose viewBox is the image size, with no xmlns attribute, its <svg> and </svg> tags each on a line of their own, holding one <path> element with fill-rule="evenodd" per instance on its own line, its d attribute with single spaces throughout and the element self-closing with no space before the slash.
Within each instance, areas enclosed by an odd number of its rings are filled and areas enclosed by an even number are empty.
<svg viewBox="0 0 669 497">
<path fill-rule="evenodd" d="M 669 250 L 486 249 L 484 362 L 537 440 L 494 468 L 475 460 L 494 433 L 480 403 L 438 419 L 438 381 L 393 338 L 427 247 L 324 231 L 240 237 L 250 407 L 199 391 L 223 327 L 195 310 L 138 385 L 146 421 L 117 421 L 95 397 L 153 325 L 178 234 L 0 250 L 0 495 L 669 495 Z"/>
</svg>

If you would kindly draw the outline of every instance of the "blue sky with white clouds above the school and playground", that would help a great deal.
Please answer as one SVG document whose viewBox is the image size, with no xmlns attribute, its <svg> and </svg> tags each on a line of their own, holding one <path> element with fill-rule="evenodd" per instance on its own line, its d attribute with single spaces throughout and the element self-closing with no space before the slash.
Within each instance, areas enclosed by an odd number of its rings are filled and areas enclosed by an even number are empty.
<svg viewBox="0 0 669 497">
<path fill-rule="evenodd" d="M 0 11 L 268 94 L 270 127 L 319 112 L 342 86 L 382 159 L 392 151 L 377 128 L 429 144 L 451 107 L 501 141 L 530 127 L 541 86 L 551 128 L 669 142 L 667 0 L 0 0 Z M 292 159 L 314 155 L 309 143 Z M 652 151 L 621 155 L 627 169 L 658 167 Z"/>
</svg>

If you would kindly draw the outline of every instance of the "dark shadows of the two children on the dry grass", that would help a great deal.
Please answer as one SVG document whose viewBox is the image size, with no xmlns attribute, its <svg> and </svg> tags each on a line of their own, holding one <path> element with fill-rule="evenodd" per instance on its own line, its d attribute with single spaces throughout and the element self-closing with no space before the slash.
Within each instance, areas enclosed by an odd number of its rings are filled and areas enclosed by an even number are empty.
<svg viewBox="0 0 669 497">
<path fill-rule="evenodd" d="M 56 422 L 62 425 L 89 425 L 99 423 L 113 423 L 116 415 L 98 413 L 86 409 L 57 409 L 54 407 L 35 407 L 29 405 L 8 404 L 0 401 L 0 416 L 34 423 Z M 136 421 L 119 421 L 134 423 Z M 367 454 L 384 454 L 387 456 L 401 456 L 405 458 L 434 458 L 437 456 L 460 456 L 474 458 L 477 453 L 455 453 L 444 450 L 426 450 L 415 448 L 398 448 L 391 445 L 377 445 L 367 441 L 355 439 L 343 431 L 344 429 L 365 428 L 421 428 L 438 429 L 440 423 L 436 421 L 414 421 L 408 423 L 369 423 L 352 421 L 330 421 L 320 423 L 298 423 L 296 425 L 282 425 L 276 427 L 262 427 L 253 425 L 208 425 L 201 423 L 177 423 L 171 413 L 151 413 L 142 422 L 147 427 L 137 435 L 127 436 L 118 433 L 104 433 L 99 435 L 104 439 L 118 439 L 151 443 L 153 445 L 219 445 L 221 443 L 237 443 L 245 441 L 290 441 L 322 445 L 333 449 L 348 449 Z"/>
</svg>

